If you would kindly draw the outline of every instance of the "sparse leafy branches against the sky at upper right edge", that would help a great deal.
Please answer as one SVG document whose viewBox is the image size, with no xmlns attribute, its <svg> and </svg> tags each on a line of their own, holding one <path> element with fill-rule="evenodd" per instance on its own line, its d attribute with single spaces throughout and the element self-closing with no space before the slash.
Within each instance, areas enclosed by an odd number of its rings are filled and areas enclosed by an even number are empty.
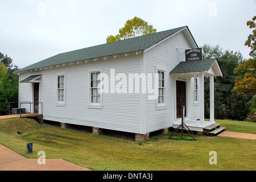
<svg viewBox="0 0 256 182">
<path fill-rule="evenodd" d="M 249 55 L 253 58 L 256 57 L 256 26 L 255 26 L 255 20 L 256 16 L 253 17 L 253 20 L 247 21 L 247 26 L 249 26 L 250 29 L 253 29 L 253 34 L 250 34 L 248 36 L 248 39 L 245 42 L 245 46 L 248 46 L 251 48 L 251 52 Z"/>
</svg>

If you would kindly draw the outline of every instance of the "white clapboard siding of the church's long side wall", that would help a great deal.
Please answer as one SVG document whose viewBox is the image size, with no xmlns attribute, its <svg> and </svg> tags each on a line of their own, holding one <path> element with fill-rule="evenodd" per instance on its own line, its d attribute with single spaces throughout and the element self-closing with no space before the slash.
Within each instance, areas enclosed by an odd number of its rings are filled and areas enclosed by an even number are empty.
<svg viewBox="0 0 256 182">
<path fill-rule="evenodd" d="M 99 127 L 102 129 L 140 133 L 140 94 L 103 94 L 103 108 L 92 109 L 89 105 L 89 71 L 103 69 L 110 77 L 110 69 L 115 75 L 140 72 L 141 55 L 119 56 L 117 59 L 91 61 L 62 68 L 46 69 L 42 72 L 40 101 L 43 102 L 43 118 L 50 121 L 75 125 Z M 66 73 L 66 106 L 57 106 L 57 75 Z M 30 75 L 21 74 L 21 80 Z M 128 81 L 128 79 L 127 79 Z M 118 81 L 116 81 L 117 84 Z M 20 101 L 32 101 L 32 84 L 20 84 Z M 127 88 L 128 89 L 128 88 Z"/>
</svg>

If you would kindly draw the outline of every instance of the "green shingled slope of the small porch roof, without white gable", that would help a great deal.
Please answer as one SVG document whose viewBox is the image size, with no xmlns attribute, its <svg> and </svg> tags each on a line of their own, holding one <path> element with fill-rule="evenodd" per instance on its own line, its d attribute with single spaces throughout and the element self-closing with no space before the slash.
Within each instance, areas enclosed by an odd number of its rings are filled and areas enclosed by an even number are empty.
<svg viewBox="0 0 256 182">
<path fill-rule="evenodd" d="M 174 73 L 192 73 L 209 71 L 217 59 L 203 59 L 195 61 L 182 61 L 171 72 Z"/>
</svg>

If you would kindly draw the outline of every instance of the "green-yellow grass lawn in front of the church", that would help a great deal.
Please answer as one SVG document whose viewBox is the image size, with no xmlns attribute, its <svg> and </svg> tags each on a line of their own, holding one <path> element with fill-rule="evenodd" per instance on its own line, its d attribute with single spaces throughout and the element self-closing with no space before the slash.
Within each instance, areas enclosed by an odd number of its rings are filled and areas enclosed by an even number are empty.
<svg viewBox="0 0 256 182">
<path fill-rule="evenodd" d="M 256 123 L 217 121 L 227 131 L 255 133 Z M 20 131 L 22 134 L 18 134 Z M 33 142 L 33 153 L 26 144 Z M 256 170 L 256 140 L 197 135 L 197 140 L 151 137 L 147 142 L 39 125 L 33 119 L 1 119 L 0 143 L 26 158 L 61 158 L 93 170 Z M 141 144 L 139 144 L 141 143 Z M 217 165 L 210 165 L 210 151 Z"/>
</svg>

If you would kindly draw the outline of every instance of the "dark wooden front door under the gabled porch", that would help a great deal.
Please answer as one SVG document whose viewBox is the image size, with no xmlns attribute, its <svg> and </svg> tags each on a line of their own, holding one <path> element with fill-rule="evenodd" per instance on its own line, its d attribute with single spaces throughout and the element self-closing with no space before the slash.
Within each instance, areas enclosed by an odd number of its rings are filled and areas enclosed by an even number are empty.
<svg viewBox="0 0 256 182">
<path fill-rule="evenodd" d="M 185 106 L 186 116 L 186 81 L 176 81 L 176 110 L 177 118 L 182 117 L 182 106 Z"/>
</svg>

